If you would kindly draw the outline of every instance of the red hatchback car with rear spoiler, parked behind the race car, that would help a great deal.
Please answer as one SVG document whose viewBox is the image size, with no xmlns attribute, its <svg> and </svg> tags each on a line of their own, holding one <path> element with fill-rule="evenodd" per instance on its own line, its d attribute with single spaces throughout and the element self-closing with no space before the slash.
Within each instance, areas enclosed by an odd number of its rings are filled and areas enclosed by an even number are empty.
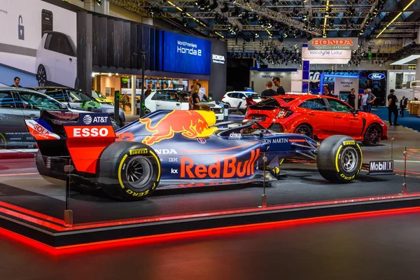
<svg viewBox="0 0 420 280">
<path fill-rule="evenodd" d="M 346 135 L 366 146 L 377 146 L 388 132 L 378 116 L 356 111 L 335 97 L 313 94 L 270 97 L 249 106 L 245 119 L 257 120 L 269 130 L 306 134 L 317 140 Z"/>
</svg>

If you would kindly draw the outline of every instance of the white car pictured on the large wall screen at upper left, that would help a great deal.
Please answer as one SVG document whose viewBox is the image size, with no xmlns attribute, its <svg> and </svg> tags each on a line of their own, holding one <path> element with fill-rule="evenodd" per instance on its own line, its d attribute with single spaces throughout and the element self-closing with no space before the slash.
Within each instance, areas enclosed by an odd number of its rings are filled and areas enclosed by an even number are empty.
<svg viewBox="0 0 420 280">
<path fill-rule="evenodd" d="M 70 36 L 46 31 L 36 50 L 36 80 L 44 87 L 50 82 L 78 87 L 76 45 Z"/>
</svg>

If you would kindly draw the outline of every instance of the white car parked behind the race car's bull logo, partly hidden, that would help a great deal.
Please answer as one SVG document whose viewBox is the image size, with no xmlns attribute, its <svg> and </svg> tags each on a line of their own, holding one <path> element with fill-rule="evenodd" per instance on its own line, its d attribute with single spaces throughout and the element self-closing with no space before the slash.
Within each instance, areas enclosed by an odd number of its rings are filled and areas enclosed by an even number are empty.
<svg viewBox="0 0 420 280">
<path fill-rule="evenodd" d="M 178 90 L 153 90 L 144 100 L 146 113 L 157 110 L 188 110 L 190 94 Z M 203 102 L 216 114 L 216 120 L 223 120 L 223 109 L 216 102 Z"/>
</svg>

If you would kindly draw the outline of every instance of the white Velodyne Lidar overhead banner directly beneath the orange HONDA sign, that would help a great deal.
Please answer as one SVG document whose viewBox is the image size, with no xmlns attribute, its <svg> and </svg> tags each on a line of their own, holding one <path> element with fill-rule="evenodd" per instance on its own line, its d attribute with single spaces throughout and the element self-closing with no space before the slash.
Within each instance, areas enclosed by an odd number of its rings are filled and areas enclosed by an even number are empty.
<svg viewBox="0 0 420 280">
<path fill-rule="evenodd" d="M 345 64 L 351 59 L 351 50 L 309 50 L 302 48 L 302 60 L 311 64 Z"/>
</svg>

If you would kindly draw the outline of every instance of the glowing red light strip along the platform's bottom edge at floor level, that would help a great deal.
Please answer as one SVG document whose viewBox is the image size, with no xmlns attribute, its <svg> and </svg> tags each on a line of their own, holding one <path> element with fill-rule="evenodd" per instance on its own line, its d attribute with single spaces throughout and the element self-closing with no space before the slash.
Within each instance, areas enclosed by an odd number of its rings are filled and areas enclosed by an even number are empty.
<svg viewBox="0 0 420 280">
<path fill-rule="evenodd" d="M 251 230 L 269 230 L 273 228 L 280 228 L 286 226 L 294 225 L 304 225 L 310 223 L 323 223 L 330 221 L 345 221 L 351 218 L 367 218 L 367 217 L 377 217 L 385 215 L 395 215 L 395 214 L 414 214 L 419 213 L 420 207 L 413 208 L 402 208 L 402 209 L 391 209 L 391 210 L 380 210 L 380 211 L 370 211 L 370 212 L 360 212 L 355 214 L 340 214 L 335 216 L 321 216 L 316 218 L 302 218 L 289 221 L 278 221 L 270 223 L 258 223 L 251 225 L 236 225 L 225 228 L 212 228 L 208 230 L 193 230 L 188 232 L 174 232 L 167 233 L 163 235 L 152 235 L 146 237 L 133 237 L 127 239 L 118 239 L 110 241 L 100 241 L 87 244 L 77 244 L 73 246 L 61 246 L 61 247 L 51 247 L 41 242 L 35 241 L 28 237 L 18 235 L 15 232 L 10 232 L 8 230 L 3 230 L 0 228 L 0 235 L 8 237 L 15 241 L 20 241 L 24 244 L 27 244 L 33 248 L 39 249 L 46 253 L 51 253 L 54 255 L 64 255 L 71 253 L 83 253 L 86 251 L 100 250 L 105 248 L 115 248 L 121 246 L 133 246 L 139 244 L 146 244 L 152 242 L 162 243 L 163 241 L 176 241 L 177 239 L 188 239 L 200 238 L 200 237 L 212 237 L 214 235 L 225 235 L 232 233 L 241 233 Z"/>
</svg>

